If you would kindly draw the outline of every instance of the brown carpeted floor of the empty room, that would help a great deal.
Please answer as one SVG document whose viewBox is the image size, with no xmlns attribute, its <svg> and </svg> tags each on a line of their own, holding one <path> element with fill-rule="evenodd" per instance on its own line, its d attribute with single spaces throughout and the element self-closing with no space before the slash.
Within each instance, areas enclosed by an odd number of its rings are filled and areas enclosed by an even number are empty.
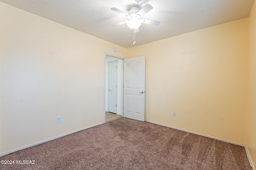
<svg viewBox="0 0 256 170">
<path fill-rule="evenodd" d="M 1 170 L 252 170 L 244 147 L 124 117 L 0 160 L 15 160 Z"/>
</svg>

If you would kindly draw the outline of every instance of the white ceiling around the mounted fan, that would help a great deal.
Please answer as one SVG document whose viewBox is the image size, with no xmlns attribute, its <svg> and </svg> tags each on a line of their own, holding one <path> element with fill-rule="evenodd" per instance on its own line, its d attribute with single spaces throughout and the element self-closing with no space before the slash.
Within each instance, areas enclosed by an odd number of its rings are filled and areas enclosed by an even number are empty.
<svg viewBox="0 0 256 170">
<path fill-rule="evenodd" d="M 126 20 L 112 10 L 128 13 L 135 0 L 0 0 L 27 12 L 47 18 L 116 45 L 130 48 L 206 27 L 246 18 L 254 0 L 150 0 L 153 9 L 142 18 L 160 21 L 160 25 L 143 24 L 136 33 Z M 141 8 L 141 6 L 139 6 Z"/>
</svg>

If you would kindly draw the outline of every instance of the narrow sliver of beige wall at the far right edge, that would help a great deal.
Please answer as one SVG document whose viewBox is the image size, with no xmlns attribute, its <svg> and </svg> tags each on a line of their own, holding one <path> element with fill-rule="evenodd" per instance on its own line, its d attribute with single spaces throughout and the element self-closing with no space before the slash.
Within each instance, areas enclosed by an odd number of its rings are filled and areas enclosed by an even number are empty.
<svg viewBox="0 0 256 170">
<path fill-rule="evenodd" d="M 248 125 L 247 147 L 256 169 L 256 1 L 250 17 L 250 55 L 249 55 L 249 88 L 248 88 Z"/>
</svg>

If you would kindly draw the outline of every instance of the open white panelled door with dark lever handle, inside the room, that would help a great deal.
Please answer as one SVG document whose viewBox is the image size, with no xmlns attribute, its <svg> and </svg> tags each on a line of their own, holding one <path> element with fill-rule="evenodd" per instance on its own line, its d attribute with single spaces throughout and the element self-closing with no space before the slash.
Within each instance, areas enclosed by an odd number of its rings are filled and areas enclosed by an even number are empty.
<svg viewBox="0 0 256 170">
<path fill-rule="evenodd" d="M 124 117 L 145 121 L 145 56 L 124 59 Z"/>
</svg>

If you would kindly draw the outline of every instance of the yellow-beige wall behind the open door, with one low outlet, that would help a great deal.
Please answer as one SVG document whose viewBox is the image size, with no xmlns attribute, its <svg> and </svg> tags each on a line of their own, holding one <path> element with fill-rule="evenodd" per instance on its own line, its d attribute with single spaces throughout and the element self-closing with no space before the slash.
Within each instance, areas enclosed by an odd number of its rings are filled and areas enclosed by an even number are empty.
<svg viewBox="0 0 256 170">
<path fill-rule="evenodd" d="M 248 42 L 246 18 L 128 49 L 146 56 L 146 120 L 246 144 Z"/>
</svg>

